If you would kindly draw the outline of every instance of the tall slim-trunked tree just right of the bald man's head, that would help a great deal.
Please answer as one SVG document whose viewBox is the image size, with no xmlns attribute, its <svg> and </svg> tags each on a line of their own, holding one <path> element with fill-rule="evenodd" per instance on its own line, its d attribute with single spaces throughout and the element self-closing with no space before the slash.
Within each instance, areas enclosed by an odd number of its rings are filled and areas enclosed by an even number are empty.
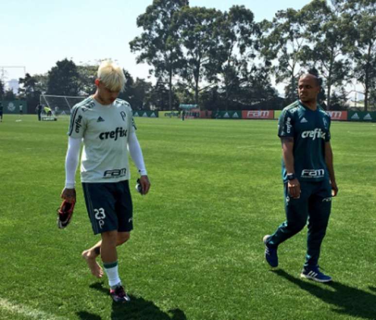
<svg viewBox="0 0 376 320">
<path fill-rule="evenodd" d="M 303 47 L 302 60 L 311 62 L 324 79 L 327 110 L 331 108 L 332 87 L 342 88 L 349 77 L 350 64 L 344 57 L 344 21 L 339 7 L 330 7 L 324 0 L 313 0 L 301 10 L 307 23 L 310 45 Z"/>
</svg>

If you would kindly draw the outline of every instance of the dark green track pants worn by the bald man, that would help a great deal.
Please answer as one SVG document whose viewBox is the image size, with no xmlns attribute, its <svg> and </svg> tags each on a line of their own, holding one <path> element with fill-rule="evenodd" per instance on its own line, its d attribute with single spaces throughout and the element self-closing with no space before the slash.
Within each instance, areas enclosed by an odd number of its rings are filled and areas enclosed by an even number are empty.
<svg viewBox="0 0 376 320">
<path fill-rule="evenodd" d="M 268 239 L 268 244 L 278 246 L 301 231 L 308 220 L 307 254 L 304 267 L 316 266 L 320 247 L 328 225 L 331 208 L 331 186 L 328 180 L 301 182 L 301 195 L 293 199 L 284 184 L 286 221 Z"/>
</svg>

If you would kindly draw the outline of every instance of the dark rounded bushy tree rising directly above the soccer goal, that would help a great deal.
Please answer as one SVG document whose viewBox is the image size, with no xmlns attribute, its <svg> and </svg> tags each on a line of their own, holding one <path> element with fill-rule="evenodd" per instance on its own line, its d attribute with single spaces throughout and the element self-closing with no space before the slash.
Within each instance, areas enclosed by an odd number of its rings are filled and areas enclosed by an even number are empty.
<svg viewBox="0 0 376 320">
<path fill-rule="evenodd" d="M 81 91 L 79 78 L 73 61 L 67 58 L 57 61 L 56 66 L 48 71 L 47 94 L 77 96 Z"/>
</svg>

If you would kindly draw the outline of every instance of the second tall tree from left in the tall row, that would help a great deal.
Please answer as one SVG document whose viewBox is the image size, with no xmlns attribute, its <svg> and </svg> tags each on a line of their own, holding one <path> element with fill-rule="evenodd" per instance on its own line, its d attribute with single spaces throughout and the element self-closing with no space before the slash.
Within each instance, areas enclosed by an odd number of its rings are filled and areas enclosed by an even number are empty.
<svg viewBox="0 0 376 320">
<path fill-rule="evenodd" d="M 175 13 L 176 29 L 179 41 L 184 46 L 184 65 L 179 70 L 183 84 L 194 90 L 194 103 L 199 103 L 202 80 L 210 79 L 212 53 L 215 52 L 218 39 L 214 26 L 222 16 L 220 11 L 205 7 L 184 7 Z M 209 85 L 210 86 L 210 85 Z"/>
</svg>

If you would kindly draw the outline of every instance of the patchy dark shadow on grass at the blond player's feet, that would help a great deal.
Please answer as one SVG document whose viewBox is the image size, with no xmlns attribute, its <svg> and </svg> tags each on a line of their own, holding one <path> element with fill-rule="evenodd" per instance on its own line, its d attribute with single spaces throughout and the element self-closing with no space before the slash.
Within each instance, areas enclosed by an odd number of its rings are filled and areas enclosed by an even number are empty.
<svg viewBox="0 0 376 320">
<path fill-rule="evenodd" d="M 91 284 L 90 288 L 103 292 L 110 302 L 108 289 L 103 288 L 102 283 Z M 111 320 L 134 319 L 134 320 L 187 320 L 186 315 L 180 309 L 171 309 L 168 312 L 160 310 L 152 301 L 141 297 L 129 295 L 131 302 L 112 302 Z M 98 315 L 85 311 L 77 312 L 81 320 L 102 320 Z"/>
</svg>

